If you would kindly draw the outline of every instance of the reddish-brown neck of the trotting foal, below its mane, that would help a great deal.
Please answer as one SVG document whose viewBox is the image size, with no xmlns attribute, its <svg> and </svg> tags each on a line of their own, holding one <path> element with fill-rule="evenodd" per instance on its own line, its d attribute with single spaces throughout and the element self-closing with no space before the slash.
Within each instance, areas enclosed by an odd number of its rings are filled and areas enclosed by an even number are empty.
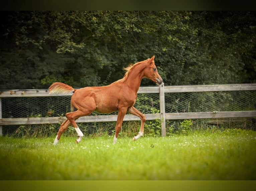
<svg viewBox="0 0 256 191">
<path fill-rule="evenodd" d="M 140 69 L 136 69 L 136 70 L 131 71 L 128 74 L 127 79 L 124 82 L 132 90 L 134 90 L 136 93 L 138 92 L 141 80 L 144 77 L 143 69 L 141 69 L 141 70 Z"/>
</svg>

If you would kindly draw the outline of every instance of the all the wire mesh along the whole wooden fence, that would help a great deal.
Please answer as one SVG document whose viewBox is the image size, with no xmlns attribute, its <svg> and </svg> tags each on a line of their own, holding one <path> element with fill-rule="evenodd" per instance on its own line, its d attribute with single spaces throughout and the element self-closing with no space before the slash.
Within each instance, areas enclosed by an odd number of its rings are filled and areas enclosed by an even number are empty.
<svg viewBox="0 0 256 191">
<path fill-rule="evenodd" d="M 165 112 L 212 112 L 212 111 L 249 111 L 256 110 L 256 91 L 220 91 L 220 92 L 185 92 L 165 93 Z M 2 97 L 2 118 L 17 117 L 57 117 L 65 116 L 70 111 L 71 96 L 47 97 Z M 159 113 L 159 94 L 138 94 L 135 108 L 144 114 Z M 117 114 L 117 112 L 110 113 Z M 103 115 L 93 112 L 91 115 Z M 107 115 L 107 114 L 104 114 Z M 184 125 L 195 129 L 212 128 L 256 128 L 255 118 L 232 119 L 194 119 L 166 120 L 166 134 L 175 133 Z M 58 131 L 61 121 L 57 124 L 38 125 L 3 125 L 3 135 L 49 136 Z M 87 136 L 95 134 L 112 135 L 116 122 L 78 123 Z M 155 126 L 153 126 L 154 124 Z M 121 136 L 136 134 L 140 121 L 124 121 Z M 157 135 L 160 130 L 159 120 L 146 121 L 145 134 Z M 153 128 L 153 130 L 152 130 Z M 157 132 L 157 133 L 156 133 Z M 68 134 L 77 135 L 74 128 L 68 128 Z"/>
</svg>

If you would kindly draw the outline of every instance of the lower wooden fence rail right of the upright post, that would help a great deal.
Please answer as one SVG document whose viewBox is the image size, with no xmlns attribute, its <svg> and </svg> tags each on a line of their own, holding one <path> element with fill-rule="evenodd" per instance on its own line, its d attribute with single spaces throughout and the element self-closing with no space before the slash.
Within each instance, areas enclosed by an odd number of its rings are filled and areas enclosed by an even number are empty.
<svg viewBox="0 0 256 191">
<path fill-rule="evenodd" d="M 195 113 L 165 113 L 165 119 L 206 119 L 206 118 L 232 118 L 256 117 L 256 111 L 221 111 L 221 112 L 195 112 Z"/>
</svg>

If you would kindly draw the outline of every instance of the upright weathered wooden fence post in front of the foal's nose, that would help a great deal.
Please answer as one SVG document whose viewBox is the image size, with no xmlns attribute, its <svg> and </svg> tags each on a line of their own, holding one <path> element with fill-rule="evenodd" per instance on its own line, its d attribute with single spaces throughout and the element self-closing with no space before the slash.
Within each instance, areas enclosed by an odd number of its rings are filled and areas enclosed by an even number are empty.
<svg viewBox="0 0 256 191">
<path fill-rule="evenodd" d="M 164 83 L 162 83 L 160 86 L 160 116 L 161 116 L 161 135 L 163 137 L 166 136 L 166 130 L 165 130 L 165 103 L 164 103 Z"/>
</svg>

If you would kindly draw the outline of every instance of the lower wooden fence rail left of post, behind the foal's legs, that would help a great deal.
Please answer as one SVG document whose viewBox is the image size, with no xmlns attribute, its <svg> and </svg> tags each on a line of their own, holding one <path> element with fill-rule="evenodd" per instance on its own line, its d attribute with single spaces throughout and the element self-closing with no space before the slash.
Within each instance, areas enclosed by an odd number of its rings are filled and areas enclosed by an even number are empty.
<svg viewBox="0 0 256 191">
<path fill-rule="evenodd" d="M 145 114 L 146 120 L 160 119 L 160 113 Z M 24 125 L 24 124 L 50 124 L 50 123 L 62 123 L 66 117 L 28 117 L 28 118 L 2 118 L 0 119 L 0 125 Z M 78 123 L 82 122 L 109 122 L 116 121 L 117 115 L 92 115 L 80 117 L 76 120 Z M 127 114 L 124 117 L 124 121 L 136 121 L 140 120 L 138 116 Z"/>
</svg>

